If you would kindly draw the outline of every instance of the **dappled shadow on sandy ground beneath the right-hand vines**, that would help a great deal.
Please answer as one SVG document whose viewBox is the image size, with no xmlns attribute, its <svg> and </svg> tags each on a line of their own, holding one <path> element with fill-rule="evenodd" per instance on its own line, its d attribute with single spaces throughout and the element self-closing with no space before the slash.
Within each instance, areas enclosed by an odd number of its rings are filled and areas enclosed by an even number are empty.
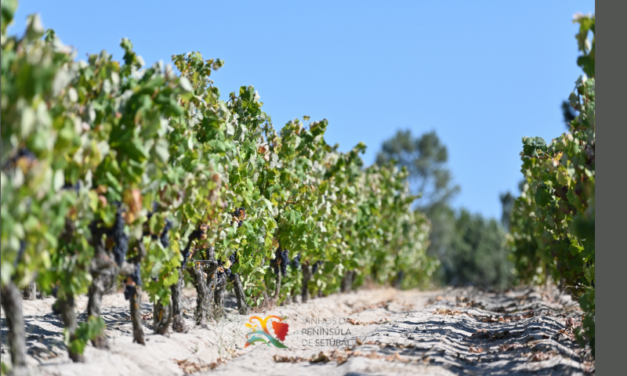
<svg viewBox="0 0 627 376">
<path fill-rule="evenodd" d="M 586 374 L 593 366 L 573 336 L 581 316 L 555 291 L 455 289 L 381 326 L 352 351 L 459 375 Z"/>
</svg>

